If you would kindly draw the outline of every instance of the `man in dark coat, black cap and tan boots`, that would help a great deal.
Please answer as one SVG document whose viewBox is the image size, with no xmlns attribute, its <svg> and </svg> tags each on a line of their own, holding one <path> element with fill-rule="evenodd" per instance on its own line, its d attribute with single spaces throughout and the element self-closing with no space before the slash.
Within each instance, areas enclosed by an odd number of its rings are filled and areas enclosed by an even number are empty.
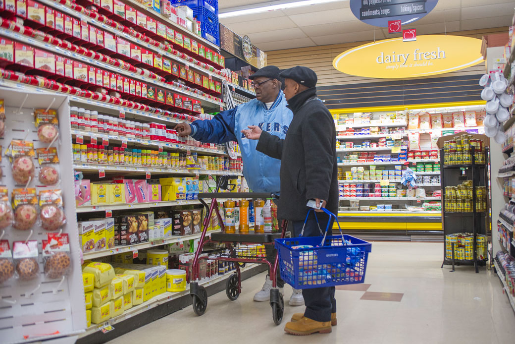
<svg viewBox="0 0 515 344">
<path fill-rule="evenodd" d="M 281 73 L 285 78 L 284 94 L 288 108 L 294 113 L 285 139 L 262 132 L 258 126 L 242 130 L 248 139 L 259 139 L 256 150 L 281 159 L 281 197 L 278 218 L 288 220 L 294 235 L 300 236 L 310 209 L 308 200 L 315 200 L 336 214 L 338 209 L 338 166 L 336 129 L 331 113 L 316 95 L 317 76 L 307 67 L 294 67 Z M 325 230 L 332 220 L 317 210 L 320 227 Z M 320 236 L 314 215 L 310 215 L 304 236 Z M 306 310 L 295 314 L 284 331 L 306 335 L 331 332 L 336 325 L 334 287 L 302 290 Z"/>
</svg>

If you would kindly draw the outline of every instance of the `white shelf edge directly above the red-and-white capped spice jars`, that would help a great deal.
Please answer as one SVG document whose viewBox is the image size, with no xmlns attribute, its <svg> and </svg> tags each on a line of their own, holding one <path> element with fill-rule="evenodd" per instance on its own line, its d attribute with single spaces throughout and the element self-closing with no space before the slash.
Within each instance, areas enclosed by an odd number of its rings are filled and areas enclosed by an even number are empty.
<svg viewBox="0 0 515 344">
<path fill-rule="evenodd" d="M 119 116 L 120 111 L 125 111 L 125 118 L 126 119 L 144 119 L 144 120 L 152 120 L 154 122 L 162 123 L 162 124 L 177 124 L 177 123 L 183 123 L 188 121 L 179 120 L 176 118 L 171 118 L 168 116 L 163 116 L 162 114 L 156 114 L 151 112 L 145 112 L 141 110 L 132 109 L 130 107 L 125 106 L 119 106 L 114 105 L 110 103 L 105 102 L 99 102 L 92 99 L 79 97 L 73 94 L 69 93 L 62 93 L 62 92 L 55 92 L 46 88 L 42 87 L 36 87 L 31 85 L 25 85 L 16 83 L 15 81 L 7 80 L 7 79 L 1 79 L 0 78 L 0 86 L 5 86 L 9 88 L 16 88 L 25 92 L 38 92 L 38 93 L 46 93 L 48 95 L 66 95 L 70 98 L 70 103 L 72 105 L 81 105 L 81 106 L 87 106 L 88 110 L 98 110 L 105 114 L 111 114 L 112 116 Z M 131 116 L 132 115 L 132 116 Z M 188 122 L 189 123 L 189 122 Z"/>
</svg>

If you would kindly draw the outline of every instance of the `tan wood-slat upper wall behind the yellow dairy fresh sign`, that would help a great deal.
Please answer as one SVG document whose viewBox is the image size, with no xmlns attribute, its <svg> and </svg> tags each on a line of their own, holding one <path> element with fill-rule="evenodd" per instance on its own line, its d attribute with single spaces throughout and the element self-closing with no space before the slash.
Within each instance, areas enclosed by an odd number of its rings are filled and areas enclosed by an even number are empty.
<svg viewBox="0 0 515 344">
<path fill-rule="evenodd" d="M 490 29 L 448 32 L 448 35 L 475 37 L 481 39 L 484 35 L 506 33 L 507 31 L 508 27 L 497 27 Z M 305 48 L 269 51 L 267 52 L 268 64 L 277 65 L 277 67 L 281 69 L 295 67 L 296 65 L 305 65 L 306 67 L 312 68 L 318 75 L 317 86 L 393 81 L 392 79 L 374 79 L 348 75 L 341 73 L 333 68 L 333 60 L 336 56 L 338 56 L 346 50 L 349 50 L 350 48 L 369 42 L 370 41 L 352 42 L 343 44 L 320 45 Z M 444 74 L 444 76 L 467 76 L 480 75 L 484 73 L 485 65 L 482 63 L 461 71 Z M 432 78 L 434 78 L 434 76 Z"/>
</svg>

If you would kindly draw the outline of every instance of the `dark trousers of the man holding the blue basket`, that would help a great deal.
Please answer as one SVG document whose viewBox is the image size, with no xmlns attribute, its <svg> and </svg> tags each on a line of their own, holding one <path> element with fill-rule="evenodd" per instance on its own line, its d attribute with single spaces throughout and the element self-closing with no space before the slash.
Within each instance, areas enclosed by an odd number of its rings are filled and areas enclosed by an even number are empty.
<svg viewBox="0 0 515 344">
<path fill-rule="evenodd" d="M 324 212 L 317 212 L 317 218 L 322 232 L 325 231 L 328 221 L 331 220 L 328 232 L 328 235 L 331 235 L 333 219 L 330 219 Z M 304 221 L 290 221 L 290 223 L 293 225 L 293 236 L 299 237 Z M 304 227 L 304 234 L 302 236 L 320 236 L 320 231 L 313 212 L 307 219 L 306 226 Z M 331 313 L 336 313 L 334 291 L 334 287 L 302 289 L 302 296 L 304 297 L 304 303 L 306 305 L 304 317 L 315 321 L 331 321 Z"/>
</svg>

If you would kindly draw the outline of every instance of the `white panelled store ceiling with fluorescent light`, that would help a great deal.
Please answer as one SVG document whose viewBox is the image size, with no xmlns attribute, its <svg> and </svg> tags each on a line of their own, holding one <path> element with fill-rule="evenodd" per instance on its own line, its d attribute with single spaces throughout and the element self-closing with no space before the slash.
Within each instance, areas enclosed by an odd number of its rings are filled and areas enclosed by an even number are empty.
<svg viewBox="0 0 515 344">
<path fill-rule="evenodd" d="M 293 2 L 295 0 L 291 0 Z M 290 1 L 288 1 L 290 2 Z M 261 0 L 219 0 L 220 13 L 269 5 Z M 411 23 L 419 35 L 511 25 L 513 0 L 440 0 L 426 17 Z M 391 38 L 388 31 L 357 20 L 349 1 L 220 19 L 263 51 Z"/>
</svg>

